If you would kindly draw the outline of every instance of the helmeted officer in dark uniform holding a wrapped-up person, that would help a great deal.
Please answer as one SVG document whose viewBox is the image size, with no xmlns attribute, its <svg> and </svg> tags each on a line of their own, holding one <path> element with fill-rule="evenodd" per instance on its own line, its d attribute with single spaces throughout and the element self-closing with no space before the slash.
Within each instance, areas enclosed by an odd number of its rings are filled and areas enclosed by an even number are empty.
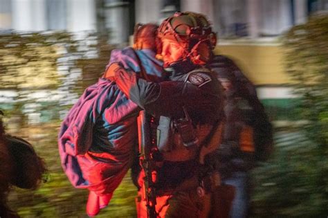
<svg viewBox="0 0 328 218">
<path fill-rule="evenodd" d="M 218 145 L 219 125 L 224 116 L 221 85 L 215 73 L 203 65 L 210 60 L 216 37 L 203 15 L 176 12 L 158 28 L 158 38 L 171 81 L 147 82 L 118 64 L 110 66 L 112 80 L 129 99 L 159 118 L 159 126 L 169 128 L 168 134 L 159 129 L 162 131 L 157 136 L 163 157 L 156 172 L 157 215 L 208 217 L 211 184 L 200 166 L 203 164 L 200 154 L 204 153 L 203 147 L 208 147 L 204 144 Z M 188 120 L 191 127 L 182 128 L 181 125 L 188 125 Z M 213 138 L 215 142 L 211 141 Z M 140 181 L 144 179 L 143 173 Z M 147 217 L 145 205 L 141 197 L 138 217 Z"/>
</svg>

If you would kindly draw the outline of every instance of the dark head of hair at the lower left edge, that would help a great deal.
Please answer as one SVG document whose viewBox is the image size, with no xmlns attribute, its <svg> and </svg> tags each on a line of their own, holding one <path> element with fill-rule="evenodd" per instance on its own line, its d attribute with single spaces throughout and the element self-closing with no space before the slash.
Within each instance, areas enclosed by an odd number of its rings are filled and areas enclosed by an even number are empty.
<svg viewBox="0 0 328 218">
<path fill-rule="evenodd" d="M 2 112 L 0 111 L 2 114 Z M 6 134 L 0 114 L 0 217 L 18 217 L 7 206 L 12 185 L 35 189 L 46 173 L 46 166 L 32 145 L 22 138 Z"/>
</svg>

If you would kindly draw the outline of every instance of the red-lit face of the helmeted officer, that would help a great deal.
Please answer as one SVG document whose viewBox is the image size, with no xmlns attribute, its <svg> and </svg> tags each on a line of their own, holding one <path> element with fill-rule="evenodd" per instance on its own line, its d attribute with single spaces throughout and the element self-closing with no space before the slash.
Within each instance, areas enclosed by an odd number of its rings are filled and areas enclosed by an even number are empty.
<svg viewBox="0 0 328 218">
<path fill-rule="evenodd" d="M 163 39 L 161 55 L 164 66 L 170 66 L 170 64 L 183 59 L 188 54 L 186 50 L 187 46 L 187 43 L 178 43 L 174 40 Z"/>
</svg>

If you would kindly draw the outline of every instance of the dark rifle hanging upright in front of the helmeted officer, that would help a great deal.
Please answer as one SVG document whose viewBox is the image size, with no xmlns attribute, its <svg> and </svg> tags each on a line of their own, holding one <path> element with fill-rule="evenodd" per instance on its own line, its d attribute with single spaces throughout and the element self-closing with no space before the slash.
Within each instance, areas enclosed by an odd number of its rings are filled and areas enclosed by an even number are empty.
<svg viewBox="0 0 328 218">
<path fill-rule="evenodd" d="M 146 199 L 147 217 L 156 218 L 156 192 L 154 187 L 156 169 L 154 153 L 156 152 L 156 131 L 152 131 L 154 117 L 145 111 L 140 111 L 138 116 L 138 143 L 140 152 L 140 165 L 145 171 L 143 182 L 144 199 Z"/>
</svg>

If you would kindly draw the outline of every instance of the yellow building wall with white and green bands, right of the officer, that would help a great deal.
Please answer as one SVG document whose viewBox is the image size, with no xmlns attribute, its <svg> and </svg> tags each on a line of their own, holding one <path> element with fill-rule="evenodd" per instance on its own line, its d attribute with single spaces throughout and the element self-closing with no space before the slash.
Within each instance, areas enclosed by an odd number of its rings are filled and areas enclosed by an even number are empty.
<svg viewBox="0 0 328 218">
<path fill-rule="evenodd" d="M 271 120 L 293 120 L 298 96 L 284 70 L 284 48 L 280 44 L 219 44 L 215 53 L 234 60 L 257 87 L 257 96 Z"/>
</svg>

